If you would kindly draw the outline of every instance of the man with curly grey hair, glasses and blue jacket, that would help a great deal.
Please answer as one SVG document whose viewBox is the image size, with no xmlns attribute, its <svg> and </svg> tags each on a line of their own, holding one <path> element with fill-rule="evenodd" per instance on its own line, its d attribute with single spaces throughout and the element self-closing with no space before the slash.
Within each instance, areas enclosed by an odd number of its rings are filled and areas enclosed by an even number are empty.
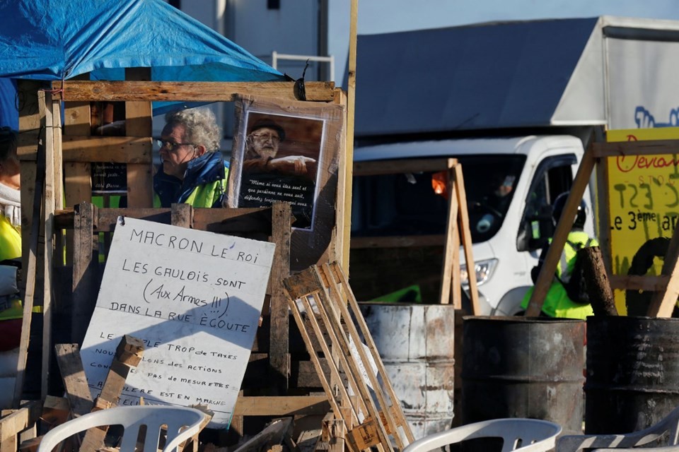
<svg viewBox="0 0 679 452">
<path fill-rule="evenodd" d="M 186 203 L 221 207 L 228 164 L 219 150 L 221 131 L 207 108 L 170 112 L 160 138 L 162 164 L 153 176 L 153 206 Z"/>
</svg>

